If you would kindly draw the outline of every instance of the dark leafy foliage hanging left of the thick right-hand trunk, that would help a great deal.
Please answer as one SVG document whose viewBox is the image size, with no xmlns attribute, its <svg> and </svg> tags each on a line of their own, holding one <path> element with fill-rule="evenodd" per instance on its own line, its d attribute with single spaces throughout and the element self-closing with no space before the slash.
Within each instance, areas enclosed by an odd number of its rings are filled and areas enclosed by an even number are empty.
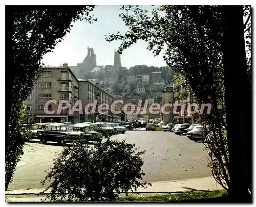
<svg viewBox="0 0 256 207">
<path fill-rule="evenodd" d="M 226 124 L 223 112 L 217 110 L 224 93 L 221 9 L 221 6 L 160 6 L 149 13 L 140 6 L 122 6 L 120 17 L 129 30 L 125 34 L 109 34 L 106 40 L 121 40 L 117 49 L 120 54 L 138 40 L 146 41 L 154 55 L 163 52 L 167 65 L 182 75 L 183 85 L 194 92 L 197 100 L 211 104 L 212 113 L 203 114 L 202 124 L 210 130 L 206 143 L 212 152 L 211 159 L 216 159 L 221 167 L 212 172 L 221 173 L 215 177 L 224 177 L 228 186 L 228 154 L 220 130 Z M 222 180 L 218 182 L 225 187 Z"/>
</svg>

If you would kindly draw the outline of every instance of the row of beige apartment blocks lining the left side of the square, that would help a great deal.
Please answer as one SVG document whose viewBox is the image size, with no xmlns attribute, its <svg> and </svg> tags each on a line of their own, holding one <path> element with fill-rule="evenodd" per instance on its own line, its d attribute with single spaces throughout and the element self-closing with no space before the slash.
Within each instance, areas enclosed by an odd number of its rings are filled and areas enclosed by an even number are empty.
<svg viewBox="0 0 256 207">
<path fill-rule="evenodd" d="M 97 83 L 96 83 L 97 84 Z M 27 98 L 27 109 L 29 111 L 28 122 L 73 122 L 79 123 L 83 121 L 118 121 L 120 115 L 112 115 L 108 112 L 106 115 L 95 113 L 94 115 L 84 115 L 84 104 L 93 102 L 97 99 L 98 105 L 104 103 L 111 104 L 116 98 L 106 93 L 99 86 L 90 81 L 77 79 L 68 64 L 62 67 L 45 67 L 40 79 L 35 83 L 31 94 Z M 48 110 L 51 114 L 46 114 L 44 107 L 47 101 L 56 100 L 56 104 L 51 103 Z M 61 110 L 57 114 L 57 108 L 60 100 L 70 102 L 70 108 Z M 83 114 L 79 111 L 70 113 L 72 106 L 77 100 L 81 100 L 83 104 Z M 63 104 L 65 105 L 65 104 Z M 106 118 L 108 117 L 108 118 Z"/>
</svg>

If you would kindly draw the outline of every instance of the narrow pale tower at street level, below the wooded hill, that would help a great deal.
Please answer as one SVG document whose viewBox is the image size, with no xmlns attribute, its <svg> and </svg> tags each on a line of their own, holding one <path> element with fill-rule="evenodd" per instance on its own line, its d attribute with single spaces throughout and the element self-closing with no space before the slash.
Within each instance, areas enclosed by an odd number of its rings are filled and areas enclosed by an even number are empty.
<svg viewBox="0 0 256 207">
<path fill-rule="evenodd" d="M 163 88 L 163 105 L 164 104 L 173 104 L 174 103 L 174 91 L 173 87 L 165 87 Z M 173 114 L 173 107 L 168 108 L 165 107 L 165 111 L 170 111 L 169 114 L 163 114 L 163 125 L 166 125 L 167 123 L 172 123 L 174 119 L 174 114 Z"/>
</svg>

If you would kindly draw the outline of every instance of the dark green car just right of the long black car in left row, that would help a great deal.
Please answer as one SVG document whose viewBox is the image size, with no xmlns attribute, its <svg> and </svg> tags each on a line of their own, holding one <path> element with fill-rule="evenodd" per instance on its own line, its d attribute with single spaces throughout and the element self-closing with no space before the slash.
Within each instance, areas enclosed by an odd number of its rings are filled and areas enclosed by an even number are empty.
<svg viewBox="0 0 256 207">
<path fill-rule="evenodd" d="M 73 128 L 74 132 L 81 132 L 84 134 L 91 134 L 92 136 L 86 136 L 85 138 L 88 141 L 98 141 L 101 142 L 102 135 L 98 132 L 95 132 L 93 130 L 93 127 L 89 124 L 83 123 L 83 124 L 76 124 Z"/>
</svg>

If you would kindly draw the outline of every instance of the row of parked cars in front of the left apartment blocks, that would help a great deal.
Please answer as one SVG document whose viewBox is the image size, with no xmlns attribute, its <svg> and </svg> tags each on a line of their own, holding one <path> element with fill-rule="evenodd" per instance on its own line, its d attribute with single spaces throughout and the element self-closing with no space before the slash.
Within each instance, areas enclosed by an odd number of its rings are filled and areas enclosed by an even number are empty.
<svg viewBox="0 0 256 207">
<path fill-rule="evenodd" d="M 83 122 L 77 124 L 69 123 L 36 123 L 29 125 L 31 130 L 30 139 L 39 139 L 42 143 L 48 141 L 63 143 L 72 142 L 78 138 L 88 141 L 101 141 L 102 133 L 109 135 L 126 132 L 126 127 L 119 126 L 118 123 L 106 122 Z"/>
</svg>

